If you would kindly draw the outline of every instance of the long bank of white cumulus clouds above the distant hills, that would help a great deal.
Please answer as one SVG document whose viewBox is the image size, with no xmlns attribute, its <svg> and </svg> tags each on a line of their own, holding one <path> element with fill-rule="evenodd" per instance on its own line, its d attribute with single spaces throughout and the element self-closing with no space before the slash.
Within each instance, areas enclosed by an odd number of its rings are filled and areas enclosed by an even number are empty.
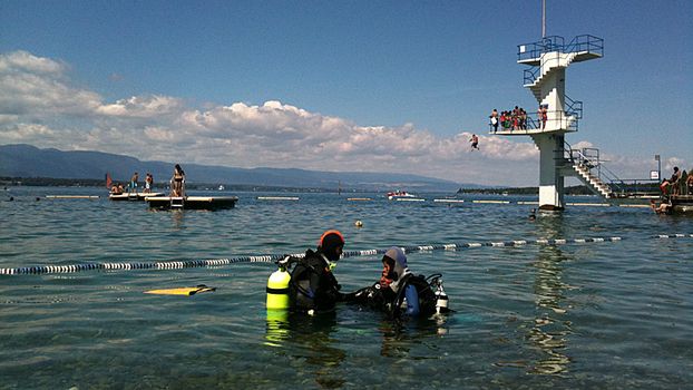
<svg viewBox="0 0 693 390">
<path fill-rule="evenodd" d="M 104 100 L 76 87 L 61 61 L 26 51 L 0 53 L 0 144 L 95 149 L 144 160 L 537 183 L 538 150 L 528 138 L 478 134 L 480 150 L 472 152 L 469 130 L 440 137 L 413 124 L 355 124 L 276 100 L 204 109 L 164 95 Z"/>
</svg>

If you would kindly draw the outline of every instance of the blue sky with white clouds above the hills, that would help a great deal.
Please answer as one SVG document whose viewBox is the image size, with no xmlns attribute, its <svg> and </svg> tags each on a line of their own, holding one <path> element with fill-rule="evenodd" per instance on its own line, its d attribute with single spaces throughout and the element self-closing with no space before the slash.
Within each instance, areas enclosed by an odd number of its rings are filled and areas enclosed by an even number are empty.
<svg viewBox="0 0 693 390">
<path fill-rule="evenodd" d="M 238 167 L 409 172 L 537 185 L 517 45 L 540 0 L 0 0 L 0 144 Z M 552 1 L 547 33 L 604 39 L 572 65 L 572 145 L 623 178 L 693 168 L 693 2 Z M 469 136 L 480 135 L 480 153 Z"/>
</svg>

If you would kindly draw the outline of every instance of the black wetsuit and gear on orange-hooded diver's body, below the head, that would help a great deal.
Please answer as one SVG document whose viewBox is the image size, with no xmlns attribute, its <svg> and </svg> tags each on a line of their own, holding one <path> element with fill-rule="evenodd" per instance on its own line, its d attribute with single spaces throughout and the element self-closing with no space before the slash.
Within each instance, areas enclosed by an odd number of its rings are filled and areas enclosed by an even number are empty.
<svg viewBox="0 0 693 390">
<path fill-rule="evenodd" d="M 291 273 L 289 306 L 294 312 L 331 312 L 342 300 L 340 287 L 326 259 L 308 250 Z"/>
</svg>

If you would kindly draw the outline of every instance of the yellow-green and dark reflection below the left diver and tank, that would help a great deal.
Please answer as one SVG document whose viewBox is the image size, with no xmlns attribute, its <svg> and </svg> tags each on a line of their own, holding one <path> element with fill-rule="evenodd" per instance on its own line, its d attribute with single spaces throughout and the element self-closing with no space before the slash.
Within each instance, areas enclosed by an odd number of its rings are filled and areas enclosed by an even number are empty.
<svg viewBox="0 0 693 390">
<path fill-rule="evenodd" d="M 335 347 L 335 313 L 311 316 L 267 310 L 265 345 L 282 348 L 281 353 L 294 360 L 290 364 L 305 365 L 303 369 L 313 373 L 320 388 L 338 389 L 346 381 L 339 370 L 346 352 Z"/>
</svg>

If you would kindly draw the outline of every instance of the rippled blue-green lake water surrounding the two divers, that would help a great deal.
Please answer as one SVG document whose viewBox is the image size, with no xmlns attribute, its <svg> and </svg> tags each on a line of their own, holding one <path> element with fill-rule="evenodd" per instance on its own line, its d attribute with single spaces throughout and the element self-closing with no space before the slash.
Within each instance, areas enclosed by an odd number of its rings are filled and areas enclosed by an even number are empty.
<svg viewBox="0 0 693 390">
<path fill-rule="evenodd" d="M 455 312 L 402 326 L 348 305 L 329 318 L 267 314 L 269 262 L 0 275 L 0 388 L 662 389 L 693 381 L 693 238 L 655 237 L 692 234 L 691 216 L 568 206 L 529 221 L 536 206 L 516 202 L 530 197 L 442 204 L 430 201 L 441 194 L 420 194 L 427 202 L 215 194 L 240 201 L 226 211 L 153 212 L 109 202 L 98 188 L 11 187 L 0 194 L 0 269 L 300 253 L 328 228 L 344 234 L 345 251 L 622 240 L 411 252 L 414 273 L 443 274 Z M 380 270 L 373 255 L 344 259 L 334 272 L 348 292 Z M 144 294 L 198 284 L 216 291 Z"/>
</svg>

